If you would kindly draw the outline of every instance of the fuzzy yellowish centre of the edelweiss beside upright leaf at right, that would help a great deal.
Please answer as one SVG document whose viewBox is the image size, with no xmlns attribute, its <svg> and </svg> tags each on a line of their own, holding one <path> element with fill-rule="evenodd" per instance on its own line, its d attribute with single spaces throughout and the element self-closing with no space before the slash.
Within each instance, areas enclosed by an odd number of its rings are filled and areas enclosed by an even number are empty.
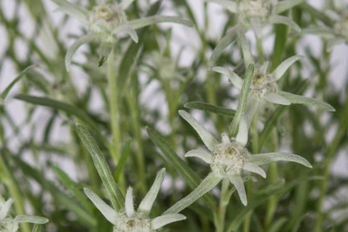
<svg viewBox="0 0 348 232">
<path fill-rule="evenodd" d="M 256 73 L 253 77 L 250 88 L 251 88 L 250 92 L 253 96 L 262 97 L 263 95 L 267 93 L 276 92 L 277 84 L 268 75 Z"/>
</svg>

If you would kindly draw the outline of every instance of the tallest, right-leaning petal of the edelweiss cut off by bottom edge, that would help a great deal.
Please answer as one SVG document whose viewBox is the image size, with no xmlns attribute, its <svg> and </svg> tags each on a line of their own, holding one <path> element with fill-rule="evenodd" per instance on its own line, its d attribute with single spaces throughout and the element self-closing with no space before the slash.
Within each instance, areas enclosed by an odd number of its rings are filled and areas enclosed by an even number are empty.
<svg viewBox="0 0 348 232">
<path fill-rule="evenodd" d="M 160 191 L 163 179 L 165 178 L 166 168 L 162 168 L 156 176 L 154 183 L 152 184 L 149 192 L 139 205 L 138 212 L 144 215 L 149 215 L 152 205 L 155 202 L 158 192 Z"/>
</svg>

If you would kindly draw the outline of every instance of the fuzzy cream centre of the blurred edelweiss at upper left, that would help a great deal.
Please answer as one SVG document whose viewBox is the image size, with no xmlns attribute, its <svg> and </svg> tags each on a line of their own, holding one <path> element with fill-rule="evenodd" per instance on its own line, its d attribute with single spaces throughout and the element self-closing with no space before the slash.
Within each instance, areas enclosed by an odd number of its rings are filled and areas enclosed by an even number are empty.
<svg viewBox="0 0 348 232">
<path fill-rule="evenodd" d="M 118 4 L 96 6 L 90 16 L 89 28 L 95 33 L 110 32 L 115 27 L 124 24 L 127 16 Z"/>
</svg>

